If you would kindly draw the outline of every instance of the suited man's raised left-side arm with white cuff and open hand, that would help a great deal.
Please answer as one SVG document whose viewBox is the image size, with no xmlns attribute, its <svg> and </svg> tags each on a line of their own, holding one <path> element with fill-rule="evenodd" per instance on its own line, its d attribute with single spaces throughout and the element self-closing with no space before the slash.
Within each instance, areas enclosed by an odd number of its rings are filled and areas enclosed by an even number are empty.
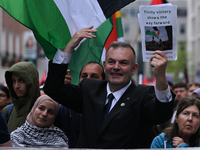
<svg viewBox="0 0 200 150">
<path fill-rule="evenodd" d="M 57 50 L 53 61 L 49 62 L 48 75 L 44 86 L 45 94 L 49 95 L 58 103 L 62 103 L 64 106 L 74 109 L 79 113 L 82 111 L 80 88 L 72 84 L 64 84 L 64 80 L 65 77 L 68 80 L 67 82 L 71 80 L 71 77 L 68 76 L 68 72 L 66 73 L 66 71 L 73 49 L 78 46 L 83 38 L 96 37 L 92 33 L 97 32 L 97 30 L 93 30 L 92 28 L 93 26 L 90 26 L 77 31 L 62 51 L 60 49 Z M 77 104 L 79 104 L 78 107 L 76 107 Z"/>
</svg>

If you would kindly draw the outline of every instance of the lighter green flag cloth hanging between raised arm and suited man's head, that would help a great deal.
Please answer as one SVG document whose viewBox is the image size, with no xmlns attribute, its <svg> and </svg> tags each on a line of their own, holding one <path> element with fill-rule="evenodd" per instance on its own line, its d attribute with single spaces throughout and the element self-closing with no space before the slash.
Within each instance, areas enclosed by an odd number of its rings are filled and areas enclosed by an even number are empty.
<svg viewBox="0 0 200 150">
<path fill-rule="evenodd" d="M 85 40 L 80 47 L 73 52 L 69 63 L 70 75 L 73 77 L 72 84 L 79 83 L 79 73 L 83 66 L 90 61 L 101 63 L 101 54 L 105 42 L 112 31 L 112 23 L 107 19 L 95 33 L 96 38 Z"/>
</svg>

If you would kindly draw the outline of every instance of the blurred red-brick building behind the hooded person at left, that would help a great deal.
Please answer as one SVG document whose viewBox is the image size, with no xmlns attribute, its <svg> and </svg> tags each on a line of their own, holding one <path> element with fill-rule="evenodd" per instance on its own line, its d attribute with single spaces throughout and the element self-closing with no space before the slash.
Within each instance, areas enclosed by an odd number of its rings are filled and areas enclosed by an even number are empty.
<svg viewBox="0 0 200 150">
<path fill-rule="evenodd" d="M 0 8 L 1 84 L 5 84 L 5 71 L 19 61 L 33 62 L 39 71 L 39 76 L 43 76 L 46 69 L 45 57 L 33 33 Z"/>
</svg>

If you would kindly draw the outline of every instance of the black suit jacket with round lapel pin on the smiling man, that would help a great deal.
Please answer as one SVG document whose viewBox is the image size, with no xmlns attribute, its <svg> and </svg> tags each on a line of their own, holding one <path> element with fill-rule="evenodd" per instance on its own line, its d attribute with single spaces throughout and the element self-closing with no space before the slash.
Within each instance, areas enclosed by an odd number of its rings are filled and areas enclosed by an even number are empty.
<svg viewBox="0 0 200 150">
<path fill-rule="evenodd" d="M 154 87 L 131 86 L 103 119 L 106 81 L 85 79 L 79 86 L 64 84 L 67 65 L 49 63 L 44 91 L 62 105 L 82 114 L 78 147 L 145 148 L 153 124 L 172 116 L 173 103 L 156 99 Z M 174 94 L 172 94 L 174 99 Z"/>
</svg>

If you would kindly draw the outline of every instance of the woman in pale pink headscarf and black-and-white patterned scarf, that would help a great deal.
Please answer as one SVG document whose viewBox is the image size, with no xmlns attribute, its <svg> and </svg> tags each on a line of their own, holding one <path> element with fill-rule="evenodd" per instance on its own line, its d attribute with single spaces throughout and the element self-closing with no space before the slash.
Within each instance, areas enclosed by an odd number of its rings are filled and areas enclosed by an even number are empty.
<svg viewBox="0 0 200 150">
<path fill-rule="evenodd" d="M 11 133 L 13 147 L 68 148 L 65 133 L 53 123 L 59 104 L 47 95 L 40 96 L 26 122 Z"/>
</svg>

